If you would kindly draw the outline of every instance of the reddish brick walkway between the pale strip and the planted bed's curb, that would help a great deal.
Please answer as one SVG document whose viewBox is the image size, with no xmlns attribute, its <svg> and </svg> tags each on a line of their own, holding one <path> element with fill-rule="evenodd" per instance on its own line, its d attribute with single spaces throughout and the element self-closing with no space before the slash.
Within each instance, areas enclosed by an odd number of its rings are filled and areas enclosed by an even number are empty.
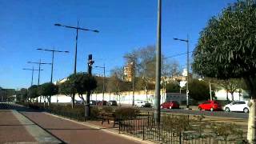
<svg viewBox="0 0 256 144">
<path fill-rule="evenodd" d="M 122 143 L 139 143 L 133 140 L 122 138 L 118 135 L 106 133 L 103 130 L 94 129 L 76 122 L 70 122 L 63 118 L 57 118 L 49 114 L 40 112 L 23 112 L 28 118 L 36 122 L 42 128 L 48 130 L 62 141 L 67 143 L 81 144 L 122 144 Z"/>
</svg>

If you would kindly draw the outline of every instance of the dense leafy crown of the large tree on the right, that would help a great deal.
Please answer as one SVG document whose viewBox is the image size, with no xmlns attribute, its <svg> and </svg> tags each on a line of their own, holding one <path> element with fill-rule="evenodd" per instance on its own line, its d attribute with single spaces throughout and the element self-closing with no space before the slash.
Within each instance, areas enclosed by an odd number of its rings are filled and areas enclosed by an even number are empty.
<svg viewBox="0 0 256 144">
<path fill-rule="evenodd" d="M 202 30 L 194 50 L 193 70 L 210 78 L 244 78 L 256 97 L 256 4 L 238 1 Z"/>
</svg>

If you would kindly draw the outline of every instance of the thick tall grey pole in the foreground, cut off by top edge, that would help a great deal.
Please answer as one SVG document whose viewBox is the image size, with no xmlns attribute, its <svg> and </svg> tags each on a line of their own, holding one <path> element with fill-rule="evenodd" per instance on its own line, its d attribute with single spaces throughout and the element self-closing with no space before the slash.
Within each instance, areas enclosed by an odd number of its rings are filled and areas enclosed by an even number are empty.
<svg viewBox="0 0 256 144">
<path fill-rule="evenodd" d="M 161 82 L 161 13 L 162 13 L 162 0 L 158 0 L 158 32 L 157 32 L 157 50 L 156 50 L 156 82 L 155 82 L 155 91 L 154 91 L 154 119 L 155 122 L 160 124 L 160 82 Z"/>
</svg>

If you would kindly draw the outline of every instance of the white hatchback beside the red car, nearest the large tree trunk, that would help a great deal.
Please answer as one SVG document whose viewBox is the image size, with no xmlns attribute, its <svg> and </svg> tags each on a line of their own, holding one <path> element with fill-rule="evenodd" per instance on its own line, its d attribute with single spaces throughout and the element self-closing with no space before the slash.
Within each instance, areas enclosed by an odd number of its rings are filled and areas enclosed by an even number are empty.
<svg viewBox="0 0 256 144">
<path fill-rule="evenodd" d="M 243 111 L 244 113 L 249 113 L 249 106 L 246 101 L 236 101 L 236 102 L 231 102 L 230 104 L 227 104 L 223 107 L 223 110 L 226 112 L 230 111 Z"/>
</svg>

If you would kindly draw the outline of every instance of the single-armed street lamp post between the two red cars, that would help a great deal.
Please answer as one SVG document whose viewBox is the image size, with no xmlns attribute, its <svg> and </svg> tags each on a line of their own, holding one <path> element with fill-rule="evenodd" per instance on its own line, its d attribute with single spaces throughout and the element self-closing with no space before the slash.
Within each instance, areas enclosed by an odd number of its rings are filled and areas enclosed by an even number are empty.
<svg viewBox="0 0 256 144">
<path fill-rule="evenodd" d="M 189 60 L 189 36 L 187 35 L 186 39 L 174 38 L 174 40 L 186 42 L 186 108 L 190 107 L 189 105 L 189 74 L 190 74 L 190 60 Z"/>
</svg>

